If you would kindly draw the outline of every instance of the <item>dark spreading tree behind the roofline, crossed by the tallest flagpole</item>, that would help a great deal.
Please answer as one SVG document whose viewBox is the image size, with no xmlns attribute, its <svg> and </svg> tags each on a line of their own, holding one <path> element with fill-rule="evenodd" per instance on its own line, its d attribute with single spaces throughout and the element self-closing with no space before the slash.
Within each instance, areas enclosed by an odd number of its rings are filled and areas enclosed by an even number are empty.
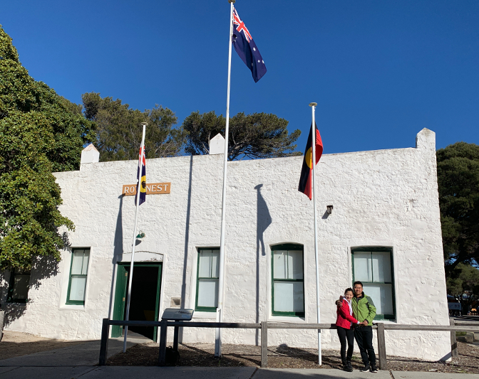
<svg viewBox="0 0 479 379">
<path fill-rule="evenodd" d="M 228 159 L 274 158 L 301 155 L 294 151 L 299 129 L 288 134 L 288 122 L 275 114 L 238 113 L 230 119 Z M 208 154 L 210 139 L 218 133 L 225 136 L 226 119 L 214 111 L 200 114 L 192 112 L 183 122 L 187 132 L 185 151 L 192 155 Z"/>
</svg>

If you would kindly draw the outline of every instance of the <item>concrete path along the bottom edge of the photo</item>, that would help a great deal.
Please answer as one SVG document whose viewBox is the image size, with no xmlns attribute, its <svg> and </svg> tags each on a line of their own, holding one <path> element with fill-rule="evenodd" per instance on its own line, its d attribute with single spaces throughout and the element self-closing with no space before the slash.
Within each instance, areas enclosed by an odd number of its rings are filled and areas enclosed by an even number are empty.
<svg viewBox="0 0 479 379">
<path fill-rule="evenodd" d="M 379 371 L 361 373 L 354 370 L 308 368 L 254 368 L 254 367 L 0 367 L 0 379 L 479 379 L 478 374 L 416 373 L 408 371 Z"/>
</svg>

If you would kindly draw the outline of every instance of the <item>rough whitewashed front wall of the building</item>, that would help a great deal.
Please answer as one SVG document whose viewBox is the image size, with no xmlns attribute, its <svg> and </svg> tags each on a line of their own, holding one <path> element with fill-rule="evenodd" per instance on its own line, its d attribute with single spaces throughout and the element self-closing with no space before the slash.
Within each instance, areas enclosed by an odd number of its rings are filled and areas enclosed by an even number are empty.
<svg viewBox="0 0 479 379">
<path fill-rule="evenodd" d="M 113 301 L 115 262 L 130 259 L 134 197 L 120 193 L 123 184 L 135 183 L 136 165 L 82 164 L 80 171 L 55 174 L 61 212 L 76 225 L 71 246 L 91 247 L 86 304 L 65 305 L 71 260 L 65 251 L 58 273 L 30 289 L 31 301 L 6 329 L 100 338 Z M 225 321 L 316 322 L 313 204 L 297 191 L 301 167 L 302 156 L 229 163 Z M 163 260 L 160 314 L 182 291 L 185 306 L 194 308 L 197 247 L 220 245 L 222 155 L 149 159 L 147 178 L 170 181 L 171 193 L 147 196 L 140 206 L 138 228 L 146 237 L 138 259 Z M 336 321 L 334 301 L 351 286 L 350 248 L 378 245 L 393 247 L 397 320 L 386 322 L 449 324 L 433 132 L 423 129 L 416 148 L 323 155 L 316 193 L 321 322 Z M 332 215 L 321 218 L 330 204 Z M 271 246 L 285 242 L 304 245 L 304 318 L 271 316 Z M 195 319 L 212 316 L 195 313 Z M 185 329 L 182 338 L 212 342 L 214 331 Z M 257 338 L 254 330 L 223 332 L 224 343 Z M 272 346 L 317 346 L 315 331 L 270 330 L 268 338 Z M 323 331 L 322 340 L 324 348 L 339 348 L 335 331 Z M 386 346 L 388 354 L 434 361 L 448 356 L 450 340 L 443 332 L 386 331 Z"/>
</svg>

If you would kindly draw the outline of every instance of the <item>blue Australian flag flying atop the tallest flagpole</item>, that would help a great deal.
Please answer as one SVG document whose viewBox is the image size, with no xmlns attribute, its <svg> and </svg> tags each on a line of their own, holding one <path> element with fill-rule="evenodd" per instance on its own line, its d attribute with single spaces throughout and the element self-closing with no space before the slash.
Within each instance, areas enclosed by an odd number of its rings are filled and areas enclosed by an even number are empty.
<svg viewBox="0 0 479 379">
<path fill-rule="evenodd" d="M 244 22 L 238 16 L 236 9 L 233 9 L 233 36 L 232 43 L 235 50 L 245 65 L 251 70 L 254 82 L 257 82 L 266 73 L 264 60 L 254 43 Z"/>
</svg>

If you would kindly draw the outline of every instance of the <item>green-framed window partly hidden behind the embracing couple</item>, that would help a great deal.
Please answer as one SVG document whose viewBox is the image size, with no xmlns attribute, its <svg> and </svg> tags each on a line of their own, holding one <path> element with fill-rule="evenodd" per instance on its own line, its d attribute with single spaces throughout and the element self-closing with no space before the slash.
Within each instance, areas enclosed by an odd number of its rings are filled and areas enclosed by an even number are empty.
<svg viewBox="0 0 479 379">
<path fill-rule="evenodd" d="M 353 282 L 363 283 L 364 293 L 374 301 L 375 319 L 396 319 L 391 247 L 360 247 L 351 250 Z"/>
</svg>

